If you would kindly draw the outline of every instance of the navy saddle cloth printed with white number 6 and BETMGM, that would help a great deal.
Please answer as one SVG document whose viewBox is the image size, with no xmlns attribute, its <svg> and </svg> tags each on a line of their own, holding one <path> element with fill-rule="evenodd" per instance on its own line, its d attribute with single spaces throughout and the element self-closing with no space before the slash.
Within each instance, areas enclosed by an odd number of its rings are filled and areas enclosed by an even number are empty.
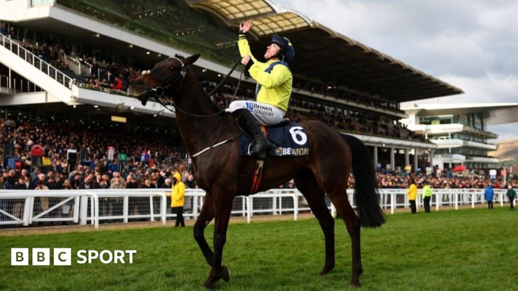
<svg viewBox="0 0 518 291">
<path fill-rule="evenodd" d="M 266 138 L 274 145 L 266 150 L 268 156 L 305 156 L 309 154 L 309 141 L 305 129 L 298 123 L 285 125 L 260 125 L 263 133 L 266 130 Z M 248 156 L 248 150 L 253 138 L 239 134 L 239 154 Z"/>
</svg>

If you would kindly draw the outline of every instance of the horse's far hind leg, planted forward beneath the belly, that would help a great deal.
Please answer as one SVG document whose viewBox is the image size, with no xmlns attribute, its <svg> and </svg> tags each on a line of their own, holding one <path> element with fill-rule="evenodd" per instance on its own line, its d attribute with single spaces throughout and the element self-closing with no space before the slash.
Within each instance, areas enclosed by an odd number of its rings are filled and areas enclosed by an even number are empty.
<svg viewBox="0 0 518 291">
<path fill-rule="evenodd" d="M 295 178 L 295 185 L 308 201 L 309 208 L 324 232 L 325 265 L 320 274 L 327 274 L 335 267 L 335 220 L 327 209 L 324 191 L 316 182 L 313 172 L 308 170 L 300 174 Z"/>
</svg>

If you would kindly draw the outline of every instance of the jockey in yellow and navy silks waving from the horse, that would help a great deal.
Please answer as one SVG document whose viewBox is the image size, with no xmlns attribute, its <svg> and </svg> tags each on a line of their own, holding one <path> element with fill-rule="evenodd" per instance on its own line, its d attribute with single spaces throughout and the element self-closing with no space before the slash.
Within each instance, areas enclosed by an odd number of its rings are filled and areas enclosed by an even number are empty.
<svg viewBox="0 0 518 291">
<path fill-rule="evenodd" d="M 239 25 L 238 46 L 241 64 L 249 68 L 250 76 L 257 82 L 257 101 L 232 101 L 226 111 L 232 112 L 238 124 L 252 134 L 254 142 L 249 154 L 253 155 L 272 146 L 257 123 L 278 124 L 288 109 L 293 83 L 289 64 L 295 50 L 289 39 L 274 34 L 264 54 L 266 63 L 257 61 L 245 37 L 251 27 L 250 21 Z"/>
</svg>

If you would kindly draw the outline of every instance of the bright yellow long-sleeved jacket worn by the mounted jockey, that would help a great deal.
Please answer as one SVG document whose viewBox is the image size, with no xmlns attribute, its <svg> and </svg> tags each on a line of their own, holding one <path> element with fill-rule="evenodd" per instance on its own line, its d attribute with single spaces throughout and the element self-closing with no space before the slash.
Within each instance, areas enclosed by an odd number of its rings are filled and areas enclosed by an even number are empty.
<svg viewBox="0 0 518 291">
<path fill-rule="evenodd" d="M 293 84 L 290 68 L 285 63 L 278 64 L 270 72 L 267 72 L 266 70 L 272 63 L 276 62 L 275 60 L 269 60 L 266 63 L 257 61 L 250 51 L 248 40 L 244 34 L 239 35 L 237 43 L 241 57 L 249 55 L 253 61 L 248 71 L 250 76 L 257 81 L 258 90 L 255 94 L 257 102 L 266 103 L 287 111 Z"/>
</svg>

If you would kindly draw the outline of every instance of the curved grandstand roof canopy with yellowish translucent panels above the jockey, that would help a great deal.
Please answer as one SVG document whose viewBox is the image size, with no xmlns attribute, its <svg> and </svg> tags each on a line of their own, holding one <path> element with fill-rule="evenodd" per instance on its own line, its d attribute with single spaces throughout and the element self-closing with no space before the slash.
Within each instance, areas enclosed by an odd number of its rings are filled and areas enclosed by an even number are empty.
<svg viewBox="0 0 518 291">
<path fill-rule="evenodd" d="M 228 26 L 251 20 L 259 42 L 253 51 L 264 51 L 272 34 L 288 37 L 295 47 L 296 76 L 360 93 L 404 102 L 464 93 L 446 82 L 415 69 L 382 52 L 341 35 L 302 14 L 268 0 L 186 0 Z"/>
</svg>

